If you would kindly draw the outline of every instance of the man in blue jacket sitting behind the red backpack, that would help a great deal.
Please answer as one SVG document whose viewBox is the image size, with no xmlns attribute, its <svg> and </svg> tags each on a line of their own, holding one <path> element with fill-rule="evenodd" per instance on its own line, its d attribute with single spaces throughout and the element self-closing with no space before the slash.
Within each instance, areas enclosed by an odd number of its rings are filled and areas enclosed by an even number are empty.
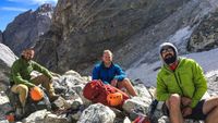
<svg viewBox="0 0 218 123">
<path fill-rule="evenodd" d="M 131 96 L 137 95 L 122 69 L 118 64 L 112 63 L 112 52 L 110 50 L 105 50 L 102 62 L 95 65 L 93 79 L 101 79 L 105 84 L 111 84 L 121 90 L 125 88 Z"/>
</svg>

